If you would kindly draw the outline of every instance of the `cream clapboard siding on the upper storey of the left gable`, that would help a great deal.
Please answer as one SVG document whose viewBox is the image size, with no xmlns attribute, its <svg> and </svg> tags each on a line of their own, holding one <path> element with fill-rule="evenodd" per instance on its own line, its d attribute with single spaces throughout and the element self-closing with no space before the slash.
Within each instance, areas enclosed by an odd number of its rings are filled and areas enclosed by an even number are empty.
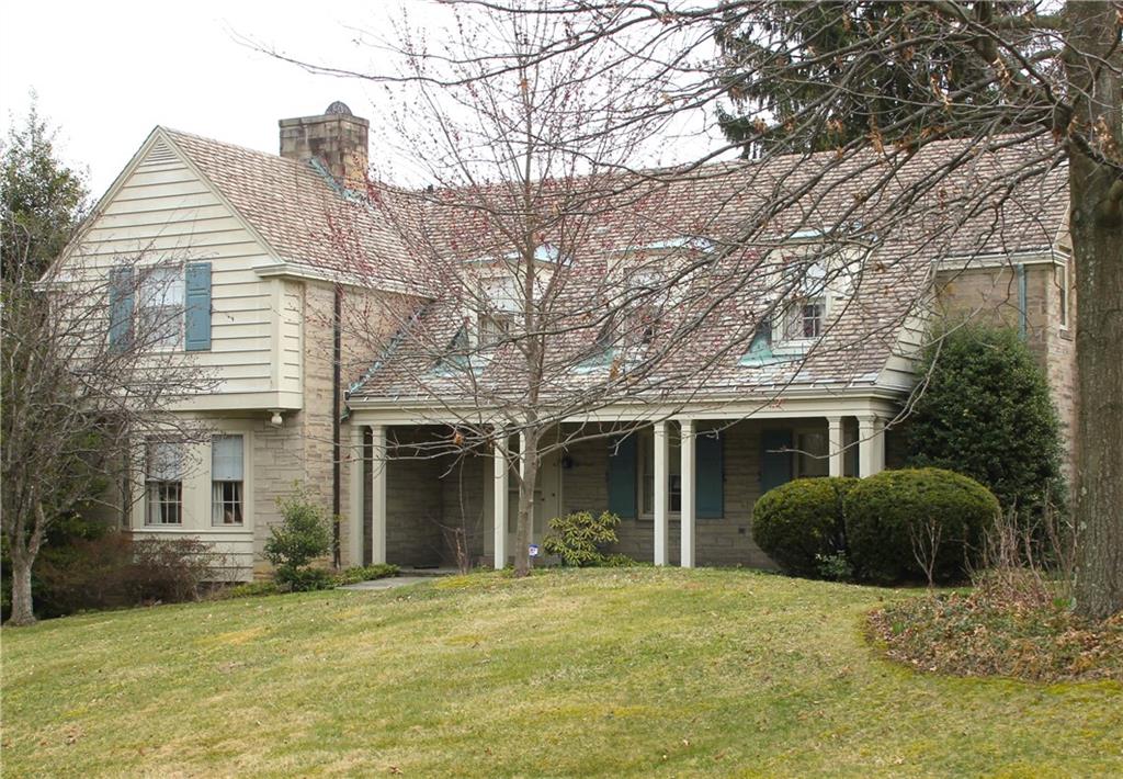
<svg viewBox="0 0 1123 779">
<path fill-rule="evenodd" d="M 81 261 L 210 262 L 211 348 L 193 353 L 218 382 L 207 407 L 299 408 L 299 286 L 262 279 L 253 269 L 276 262 L 266 247 L 158 132 L 146 146 L 85 230 Z"/>
</svg>

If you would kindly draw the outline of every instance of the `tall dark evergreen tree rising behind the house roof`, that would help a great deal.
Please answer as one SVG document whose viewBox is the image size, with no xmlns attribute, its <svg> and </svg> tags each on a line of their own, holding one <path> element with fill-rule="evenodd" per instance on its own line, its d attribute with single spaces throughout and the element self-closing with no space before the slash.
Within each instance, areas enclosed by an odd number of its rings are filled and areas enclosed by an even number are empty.
<svg viewBox="0 0 1123 779">
<path fill-rule="evenodd" d="M 990 6 L 1013 15 L 1025 4 Z M 731 4 L 716 39 L 734 110 L 719 109 L 719 123 L 749 156 L 866 138 L 958 137 L 1008 121 L 1001 90 L 984 78 L 970 42 L 946 30 L 947 19 L 928 3 Z"/>
</svg>

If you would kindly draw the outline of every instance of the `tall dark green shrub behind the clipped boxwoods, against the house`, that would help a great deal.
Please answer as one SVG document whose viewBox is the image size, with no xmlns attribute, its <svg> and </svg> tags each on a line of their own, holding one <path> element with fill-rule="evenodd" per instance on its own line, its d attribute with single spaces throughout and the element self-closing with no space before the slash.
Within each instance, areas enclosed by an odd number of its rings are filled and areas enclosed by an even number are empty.
<svg viewBox="0 0 1123 779">
<path fill-rule="evenodd" d="M 1023 517 L 1062 502 L 1060 424 L 1017 332 L 965 325 L 932 342 L 930 378 L 909 418 L 909 464 L 969 475 Z"/>
</svg>

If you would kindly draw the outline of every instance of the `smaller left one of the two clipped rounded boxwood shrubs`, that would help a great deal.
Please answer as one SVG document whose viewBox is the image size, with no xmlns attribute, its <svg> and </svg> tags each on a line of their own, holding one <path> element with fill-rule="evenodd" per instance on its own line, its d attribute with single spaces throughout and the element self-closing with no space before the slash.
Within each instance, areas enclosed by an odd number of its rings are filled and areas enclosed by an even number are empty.
<svg viewBox="0 0 1123 779">
<path fill-rule="evenodd" d="M 842 498 L 858 479 L 796 479 L 752 507 L 752 538 L 788 574 L 818 578 L 819 556 L 844 551 Z"/>
</svg>

